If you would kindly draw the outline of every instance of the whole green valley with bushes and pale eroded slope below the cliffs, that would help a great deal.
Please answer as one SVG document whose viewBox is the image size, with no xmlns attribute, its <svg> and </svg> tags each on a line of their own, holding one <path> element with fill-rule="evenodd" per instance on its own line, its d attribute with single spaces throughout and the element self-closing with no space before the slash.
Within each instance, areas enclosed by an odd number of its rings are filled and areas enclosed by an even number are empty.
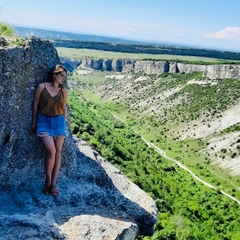
<svg viewBox="0 0 240 240">
<path fill-rule="evenodd" d="M 155 233 L 138 239 L 237 240 L 240 205 L 222 191 L 240 200 L 240 172 L 231 168 L 239 123 L 225 126 L 239 106 L 239 80 L 84 71 L 68 77 L 71 130 L 155 200 Z"/>
</svg>

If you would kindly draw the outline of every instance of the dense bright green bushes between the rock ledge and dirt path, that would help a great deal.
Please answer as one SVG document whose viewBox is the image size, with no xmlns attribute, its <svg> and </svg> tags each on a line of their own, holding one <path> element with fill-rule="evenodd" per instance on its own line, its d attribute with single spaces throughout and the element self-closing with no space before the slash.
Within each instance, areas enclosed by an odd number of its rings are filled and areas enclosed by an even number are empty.
<svg viewBox="0 0 240 240">
<path fill-rule="evenodd" d="M 86 93 L 70 91 L 73 132 L 152 196 L 159 209 L 154 236 L 138 239 L 238 239 L 238 204 L 147 148 L 131 128 L 121 127 L 109 114 L 113 105 L 96 104 L 101 103 L 96 95 Z"/>
</svg>

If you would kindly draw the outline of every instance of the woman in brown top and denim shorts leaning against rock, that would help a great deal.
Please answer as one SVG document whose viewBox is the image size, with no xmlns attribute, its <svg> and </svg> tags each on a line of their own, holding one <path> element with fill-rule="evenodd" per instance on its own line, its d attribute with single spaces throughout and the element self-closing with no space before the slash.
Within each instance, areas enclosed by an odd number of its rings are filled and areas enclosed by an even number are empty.
<svg viewBox="0 0 240 240">
<path fill-rule="evenodd" d="M 63 86 L 67 69 L 56 65 L 49 81 L 40 83 L 33 103 L 32 131 L 37 133 L 45 150 L 44 194 L 59 194 L 56 186 L 61 165 L 62 147 L 67 134 L 67 89 Z"/>
</svg>

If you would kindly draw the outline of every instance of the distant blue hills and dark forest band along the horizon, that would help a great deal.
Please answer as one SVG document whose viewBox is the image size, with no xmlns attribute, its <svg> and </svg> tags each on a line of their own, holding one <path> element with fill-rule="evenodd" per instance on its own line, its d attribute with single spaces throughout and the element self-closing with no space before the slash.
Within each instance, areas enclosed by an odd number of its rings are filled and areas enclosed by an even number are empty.
<svg viewBox="0 0 240 240">
<path fill-rule="evenodd" d="M 211 57 L 227 60 L 240 60 L 240 53 L 231 51 L 210 50 L 166 43 L 143 43 L 121 38 L 112 38 L 88 34 L 75 34 L 36 28 L 14 27 L 19 36 L 37 36 L 52 39 L 55 47 L 86 48 L 112 52 L 168 54 L 184 56 Z"/>
</svg>

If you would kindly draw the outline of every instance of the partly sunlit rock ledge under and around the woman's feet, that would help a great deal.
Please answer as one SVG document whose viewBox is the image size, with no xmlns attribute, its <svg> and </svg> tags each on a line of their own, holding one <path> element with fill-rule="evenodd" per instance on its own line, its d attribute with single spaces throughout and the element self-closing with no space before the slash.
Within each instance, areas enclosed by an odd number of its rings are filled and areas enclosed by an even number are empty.
<svg viewBox="0 0 240 240">
<path fill-rule="evenodd" d="M 1 189 L 2 236 L 134 239 L 138 234 L 152 235 L 157 215 L 153 200 L 87 143 L 72 144 L 75 169 L 69 172 L 63 164 L 57 197 L 42 194 L 39 178 Z"/>
</svg>

